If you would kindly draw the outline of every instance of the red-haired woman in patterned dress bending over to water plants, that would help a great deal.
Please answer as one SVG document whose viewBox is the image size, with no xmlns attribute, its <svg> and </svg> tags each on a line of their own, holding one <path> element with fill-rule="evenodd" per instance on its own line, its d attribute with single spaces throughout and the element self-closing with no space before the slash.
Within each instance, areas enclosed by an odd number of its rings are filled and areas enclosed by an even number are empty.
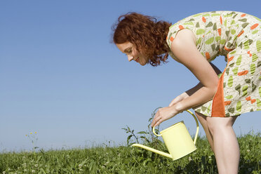
<svg viewBox="0 0 261 174">
<path fill-rule="evenodd" d="M 114 27 L 114 44 L 129 61 L 157 66 L 169 54 L 199 79 L 194 88 L 159 109 L 152 126 L 193 108 L 219 173 L 238 172 L 239 144 L 232 128 L 236 117 L 261 109 L 260 28 L 259 18 L 235 11 L 199 13 L 174 25 L 127 13 Z M 222 73 L 210 63 L 218 55 L 227 61 Z"/>
</svg>

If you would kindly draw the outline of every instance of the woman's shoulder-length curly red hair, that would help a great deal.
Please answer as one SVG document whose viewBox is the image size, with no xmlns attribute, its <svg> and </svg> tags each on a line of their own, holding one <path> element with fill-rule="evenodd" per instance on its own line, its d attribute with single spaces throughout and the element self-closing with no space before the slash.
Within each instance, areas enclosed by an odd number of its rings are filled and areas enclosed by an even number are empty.
<svg viewBox="0 0 261 174">
<path fill-rule="evenodd" d="M 131 42 L 138 51 L 149 58 L 149 63 L 156 67 L 166 62 L 170 48 L 166 37 L 171 23 L 158 21 L 148 15 L 127 13 L 121 15 L 112 27 L 114 44 Z"/>
</svg>

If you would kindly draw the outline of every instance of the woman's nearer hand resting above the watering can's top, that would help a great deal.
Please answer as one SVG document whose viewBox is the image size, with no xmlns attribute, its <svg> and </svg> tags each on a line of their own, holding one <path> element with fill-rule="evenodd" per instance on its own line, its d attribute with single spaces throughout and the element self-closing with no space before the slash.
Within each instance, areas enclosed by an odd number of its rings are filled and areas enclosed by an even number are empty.
<svg viewBox="0 0 261 174">
<path fill-rule="evenodd" d="M 154 119 L 152 121 L 152 127 L 158 126 L 162 121 L 172 118 L 178 114 L 178 109 L 175 108 L 175 105 L 171 107 L 163 107 L 156 112 Z"/>
</svg>

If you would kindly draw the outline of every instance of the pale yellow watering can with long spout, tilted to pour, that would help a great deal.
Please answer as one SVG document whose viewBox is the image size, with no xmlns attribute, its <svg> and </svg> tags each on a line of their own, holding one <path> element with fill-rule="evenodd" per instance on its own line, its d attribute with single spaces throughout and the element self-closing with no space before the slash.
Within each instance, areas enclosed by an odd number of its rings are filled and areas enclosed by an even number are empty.
<svg viewBox="0 0 261 174">
<path fill-rule="evenodd" d="M 155 127 L 153 127 L 152 129 L 153 133 L 156 136 L 162 136 L 163 141 L 165 142 L 168 152 L 170 152 L 170 154 L 161 152 L 151 147 L 147 147 L 145 145 L 133 144 L 131 146 L 147 149 L 156 154 L 161 154 L 162 156 L 166 156 L 170 159 L 173 159 L 173 161 L 194 152 L 196 150 L 196 146 L 195 146 L 196 138 L 198 137 L 199 134 L 199 122 L 196 119 L 196 116 L 192 112 L 190 112 L 189 110 L 187 110 L 187 112 L 192 114 L 192 116 L 194 116 L 194 119 L 196 121 L 196 134 L 195 134 L 194 141 L 190 137 L 189 131 L 187 131 L 184 121 L 180 121 L 178 123 L 173 124 L 173 126 L 170 126 L 164 129 L 163 131 L 161 131 L 160 135 L 155 133 Z"/>
</svg>

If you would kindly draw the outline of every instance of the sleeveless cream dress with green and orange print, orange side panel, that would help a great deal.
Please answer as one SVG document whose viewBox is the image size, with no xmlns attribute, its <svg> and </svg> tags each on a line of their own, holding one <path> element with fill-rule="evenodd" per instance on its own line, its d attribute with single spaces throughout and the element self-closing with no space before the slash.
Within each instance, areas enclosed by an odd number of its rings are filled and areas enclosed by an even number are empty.
<svg viewBox="0 0 261 174">
<path fill-rule="evenodd" d="M 225 55 L 227 61 L 213 100 L 193 109 L 217 117 L 261 110 L 261 20 L 236 11 L 192 15 L 170 26 L 169 47 L 185 28 L 194 32 L 196 46 L 208 62 L 218 55 Z"/>
</svg>

